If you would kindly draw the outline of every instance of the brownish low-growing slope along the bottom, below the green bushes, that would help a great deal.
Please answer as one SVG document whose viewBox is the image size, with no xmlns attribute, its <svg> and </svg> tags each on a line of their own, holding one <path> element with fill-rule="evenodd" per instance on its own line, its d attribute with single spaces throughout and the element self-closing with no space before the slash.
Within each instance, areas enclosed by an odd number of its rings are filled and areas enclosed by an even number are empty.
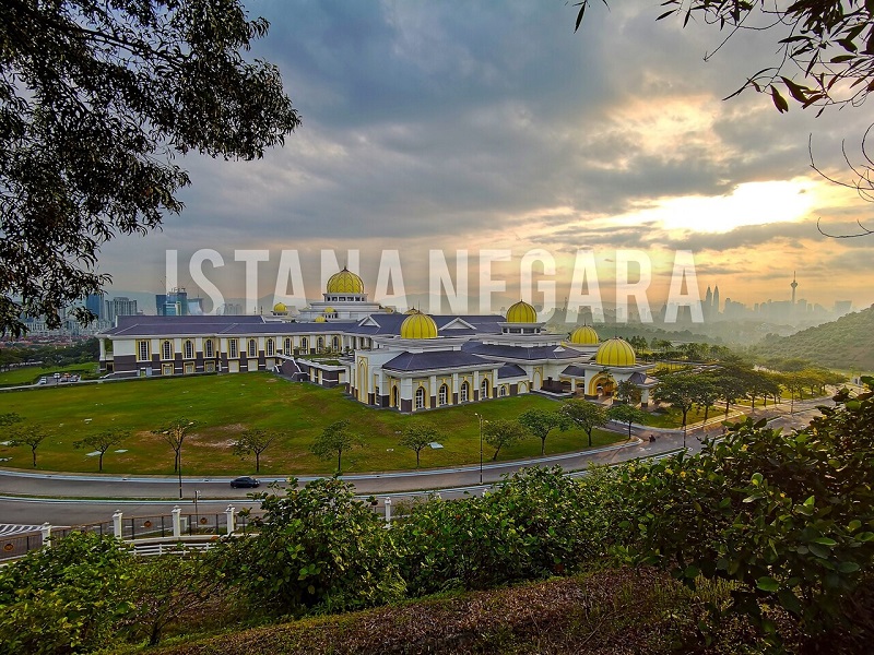
<svg viewBox="0 0 874 655">
<path fill-rule="evenodd" d="M 693 593 L 653 570 L 589 575 L 305 619 L 158 650 L 160 655 L 413 653 L 739 653 L 752 633 L 727 622 L 705 647 L 697 622 L 725 585 Z"/>
</svg>

